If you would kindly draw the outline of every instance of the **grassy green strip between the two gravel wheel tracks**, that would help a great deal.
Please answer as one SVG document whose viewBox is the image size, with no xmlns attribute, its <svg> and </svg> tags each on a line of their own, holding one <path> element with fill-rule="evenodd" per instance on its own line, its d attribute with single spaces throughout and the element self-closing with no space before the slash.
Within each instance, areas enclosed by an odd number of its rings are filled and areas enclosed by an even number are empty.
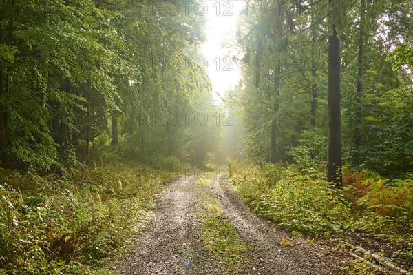
<svg viewBox="0 0 413 275">
<path fill-rule="evenodd" d="M 212 196 L 206 196 L 204 210 L 200 214 L 205 247 L 224 263 L 228 274 L 238 274 L 248 261 L 246 252 L 250 249 L 228 221 L 224 210 Z"/>
</svg>

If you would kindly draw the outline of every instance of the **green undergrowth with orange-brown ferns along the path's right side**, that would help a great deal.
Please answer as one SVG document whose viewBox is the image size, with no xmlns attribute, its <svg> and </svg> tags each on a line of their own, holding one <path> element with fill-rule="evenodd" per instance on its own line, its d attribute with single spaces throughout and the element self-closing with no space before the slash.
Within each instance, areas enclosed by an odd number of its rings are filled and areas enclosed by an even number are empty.
<svg viewBox="0 0 413 275">
<path fill-rule="evenodd" d="M 362 244 L 412 268 L 413 180 L 345 168 L 344 187 L 337 189 L 326 181 L 321 167 L 315 167 L 234 160 L 229 178 L 251 210 L 280 229 L 341 247 Z"/>
</svg>

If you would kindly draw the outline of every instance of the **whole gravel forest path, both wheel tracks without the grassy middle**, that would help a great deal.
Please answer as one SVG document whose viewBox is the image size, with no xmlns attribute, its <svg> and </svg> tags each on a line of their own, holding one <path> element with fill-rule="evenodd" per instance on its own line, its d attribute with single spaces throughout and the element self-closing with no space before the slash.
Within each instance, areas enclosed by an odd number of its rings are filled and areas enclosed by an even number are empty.
<svg viewBox="0 0 413 275">
<path fill-rule="evenodd" d="M 206 195 L 217 199 L 237 234 L 251 247 L 240 274 L 340 274 L 343 259 L 330 254 L 330 247 L 287 236 L 257 218 L 222 174 L 215 175 L 209 186 L 197 183 L 195 176 L 169 183 L 157 198 L 148 230 L 118 274 L 226 274 L 226 267 L 202 241 L 200 212 Z M 280 245 L 283 238 L 292 246 Z"/>
</svg>

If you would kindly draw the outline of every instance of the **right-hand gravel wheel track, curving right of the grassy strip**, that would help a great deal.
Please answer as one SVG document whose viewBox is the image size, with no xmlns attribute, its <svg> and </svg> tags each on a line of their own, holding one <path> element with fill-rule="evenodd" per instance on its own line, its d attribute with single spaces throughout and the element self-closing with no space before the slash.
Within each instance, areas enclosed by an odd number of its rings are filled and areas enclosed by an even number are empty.
<svg viewBox="0 0 413 275">
<path fill-rule="evenodd" d="M 226 176 L 218 174 L 212 183 L 212 192 L 224 209 L 227 218 L 237 228 L 243 241 L 251 245 L 250 263 L 244 274 L 340 274 L 338 258 L 328 255 L 328 247 L 310 245 L 308 242 L 275 230 L 248 209 L 235 194 Z M 288 238 L 293 246 L 280 245 Z"/>
</svg>

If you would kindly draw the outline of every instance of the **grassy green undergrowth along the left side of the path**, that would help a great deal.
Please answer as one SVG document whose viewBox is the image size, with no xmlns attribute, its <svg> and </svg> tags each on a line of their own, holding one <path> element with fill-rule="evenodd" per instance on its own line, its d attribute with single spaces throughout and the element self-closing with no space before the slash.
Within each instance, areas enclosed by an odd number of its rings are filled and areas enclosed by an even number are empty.
<svg viewBox="0 0 413 275">
<path fill-rule="evenodd" d="M 63 175 L 0 173 L 0 274 L 114 274 L 173 175 L 112 163 Z"/>
</svg>

